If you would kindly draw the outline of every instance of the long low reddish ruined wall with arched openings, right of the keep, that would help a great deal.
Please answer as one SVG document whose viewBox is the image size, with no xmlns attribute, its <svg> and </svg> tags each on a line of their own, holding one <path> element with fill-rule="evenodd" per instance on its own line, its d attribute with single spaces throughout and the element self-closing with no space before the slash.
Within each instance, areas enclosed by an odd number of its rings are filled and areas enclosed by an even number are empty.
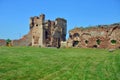
<svg viewBox="0 0 120 80">
<path fill-rule="evenodd" d="M 69 47 L 120 48 L 120 24 L 75 28 L 67 42 Z"/>
</svg>

